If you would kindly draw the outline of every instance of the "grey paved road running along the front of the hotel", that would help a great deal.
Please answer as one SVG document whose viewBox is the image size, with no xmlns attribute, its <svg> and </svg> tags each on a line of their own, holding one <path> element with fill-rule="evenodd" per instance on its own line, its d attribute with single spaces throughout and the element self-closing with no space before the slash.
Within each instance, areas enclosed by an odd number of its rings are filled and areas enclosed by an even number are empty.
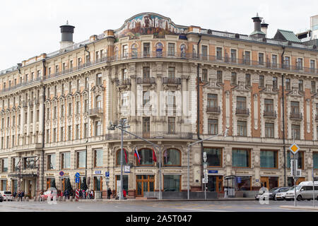
<svg viewBox="0 0 318 226">
<path fill-rule="evenodd" d="M 293 207 L 293 201 L 99 201 L 99 202 L 2 202 L 0 212 L 308 212 L 282 208 Z M 312 201 L 300 201 L 298 206 L 312 206 Z M 317 201 L 318 206 L 318 201 Z M 318 210 L 317 210 L 318 211 Z"/>
</svg>

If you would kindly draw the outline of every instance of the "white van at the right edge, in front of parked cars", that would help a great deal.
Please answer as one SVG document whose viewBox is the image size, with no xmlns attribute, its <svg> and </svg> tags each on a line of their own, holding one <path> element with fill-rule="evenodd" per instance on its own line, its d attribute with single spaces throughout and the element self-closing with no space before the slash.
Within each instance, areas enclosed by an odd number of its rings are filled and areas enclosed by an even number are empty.
<svg viewBox="0 0 318 226">
<path fill-rule="evenodd" d="M 314 182 L 314 190 L 312 189 L 312 182 L 301 182 L 296 186 L 296 198 L 298 201 L 302 199 L 310 200 L 313 198 L 318 200 L 318 182 Z M 295 198 L 295 188 L 290 189 L 285 194 L 285 200 L 291 200 Z"/>
</svg>

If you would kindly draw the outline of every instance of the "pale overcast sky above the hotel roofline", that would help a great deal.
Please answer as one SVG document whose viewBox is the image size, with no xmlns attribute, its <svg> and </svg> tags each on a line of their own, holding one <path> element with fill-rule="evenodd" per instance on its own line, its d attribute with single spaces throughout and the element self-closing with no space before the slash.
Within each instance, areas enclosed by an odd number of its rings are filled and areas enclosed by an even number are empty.
<svg viewBox="0 0 318 226">
<path fill-rule="evenodd" d="M 1 1 L 0 71 L 42 53 L 59 49 L 60 25 L 74 25 L 74 42 L 104 30 L 120 28 L 131 16 L 159 13 L 177 25 L 249 35 L 252 17 L 259 13 L 269 23 L 268 37 L 278 28 L 297 33 L 310 28 L 318 14 L 317 0 L 28 0 Z"/>
</svg>

